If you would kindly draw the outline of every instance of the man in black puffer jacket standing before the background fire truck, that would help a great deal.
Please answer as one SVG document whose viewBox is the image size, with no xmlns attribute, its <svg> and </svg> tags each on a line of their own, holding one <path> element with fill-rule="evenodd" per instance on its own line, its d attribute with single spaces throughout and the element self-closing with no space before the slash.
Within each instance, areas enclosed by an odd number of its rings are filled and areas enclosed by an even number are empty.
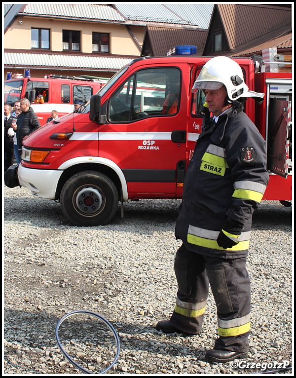
<svg viewBox="0 0 296 378">
<path fill-rule="evenodd" d="M 41 127 L 36 113 L 34 113 L 34 110 L 31 108 L 31 102 L 24 98 L 20 103 L 22 113 L 17 117 L 16 122 L 16 137 L 19 149 L 23 146 L 23 139 Z"/>
</svg>

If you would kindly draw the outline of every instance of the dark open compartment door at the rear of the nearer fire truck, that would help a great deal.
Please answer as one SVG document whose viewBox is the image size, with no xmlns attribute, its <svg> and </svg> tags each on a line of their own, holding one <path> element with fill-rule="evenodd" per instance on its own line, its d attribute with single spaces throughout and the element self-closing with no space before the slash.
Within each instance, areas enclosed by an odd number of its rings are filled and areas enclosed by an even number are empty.
<svg viewBox="0 0 296 378">
<path fill-rule="evenodd" d="M 287 177 L 292 170 L 292 101 L 289 95 L 269 96 L 267 162 L 272 173 Z"/>
</svg>

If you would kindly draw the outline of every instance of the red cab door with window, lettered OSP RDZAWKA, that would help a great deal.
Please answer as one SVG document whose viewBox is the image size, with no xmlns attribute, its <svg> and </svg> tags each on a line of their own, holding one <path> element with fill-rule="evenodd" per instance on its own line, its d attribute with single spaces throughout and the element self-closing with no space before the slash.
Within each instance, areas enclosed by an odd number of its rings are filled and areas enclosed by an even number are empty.
<svg viewBox="0 0 296 378">
<path fill-rule="evenodd" d="M 109 124 L 99 126 L 99 156 L 123 171 L 129 198 L 176 196 L 177 171 L 185 171 L 186 156 L 181 83 L 177 67 L 141 69 L 108 101 Z"/>
</svg>

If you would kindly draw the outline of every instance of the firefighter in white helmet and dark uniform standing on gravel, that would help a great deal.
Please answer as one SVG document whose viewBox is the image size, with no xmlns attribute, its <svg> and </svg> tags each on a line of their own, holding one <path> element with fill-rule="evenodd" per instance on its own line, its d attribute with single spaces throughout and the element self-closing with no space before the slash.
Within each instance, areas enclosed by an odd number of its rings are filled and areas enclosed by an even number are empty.
<svg viewBox="0 0 296 378">
<path fill-rule="evenodd" d="M 202 330 L 209 285 L 217 306 L 219 338 L 206 352 L 209 362 L 245 358 L 250 334 L 250 280 L 246 269 L 252 214 L 268 183 L 265 142 L 243 112 L 249 91 L 240 66 L 215 57 L 202 68 L 192 92 L 204 91 L 203 118 L 185 174 L 175 235 L 183 244 L 175 257 L 178 283 L 164 333 L 196 335 Z M 210 117 L 210 113 L 213 117 Z"/>
</svg>

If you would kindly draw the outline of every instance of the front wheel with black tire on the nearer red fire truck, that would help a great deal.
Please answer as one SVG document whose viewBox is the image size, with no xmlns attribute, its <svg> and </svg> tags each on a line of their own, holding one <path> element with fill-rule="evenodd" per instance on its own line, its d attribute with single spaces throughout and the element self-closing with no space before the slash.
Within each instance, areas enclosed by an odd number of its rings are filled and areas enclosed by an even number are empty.
<svg viewBox="0 0 296 378">
<path fill-rule="evenodd" d="M 105 225 L 117 210 L 118 192 L 103 173 L 79 172 L 66 181 L 60 202 L 64 215 L 74 225 Z"/>
</svg>

